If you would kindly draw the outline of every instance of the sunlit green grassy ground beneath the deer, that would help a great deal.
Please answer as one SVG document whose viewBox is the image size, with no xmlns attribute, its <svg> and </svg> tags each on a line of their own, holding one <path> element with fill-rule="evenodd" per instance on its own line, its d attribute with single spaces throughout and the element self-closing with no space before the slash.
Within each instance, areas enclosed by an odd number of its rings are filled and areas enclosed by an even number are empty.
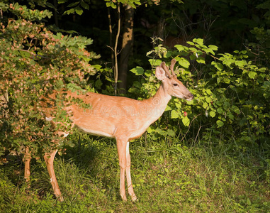
<svg viewBox="0 0 270 213">
<path fill-rule="evenodd" d="M 57 202 L 43 160 L 0 167 L 0 212 L 270 212 L 269 173 L 261 153 L 227 153 L 226 146 L 142 138 L 130 144 L 137 202 L 118 195 L 114 141 L 98 138 L 55 159 L 64 196 Z"/>
</svg>

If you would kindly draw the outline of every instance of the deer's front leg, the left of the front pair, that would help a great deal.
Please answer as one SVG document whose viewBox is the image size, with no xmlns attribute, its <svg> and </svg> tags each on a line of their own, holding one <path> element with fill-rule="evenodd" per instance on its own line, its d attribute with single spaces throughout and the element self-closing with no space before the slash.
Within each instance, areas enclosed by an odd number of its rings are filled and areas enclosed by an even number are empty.
<svg viewBox="0 0 270 213">
<path fill-rule="evenodd" d="M 120 196 L 124 201 L 127 200 L 125 196 L 125 168 L 127 165 L 126 160 L 126 146 L 128 141 L 116 139 L 119 165 L 120 165 Z"/>
</svg>

